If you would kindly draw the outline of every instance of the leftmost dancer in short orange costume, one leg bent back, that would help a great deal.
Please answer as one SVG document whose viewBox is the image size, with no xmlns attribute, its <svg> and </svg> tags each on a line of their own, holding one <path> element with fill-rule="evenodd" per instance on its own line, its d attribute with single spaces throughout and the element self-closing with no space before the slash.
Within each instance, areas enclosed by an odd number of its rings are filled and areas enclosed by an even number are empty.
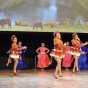
<svg viewBox="0 0 88 88">
<path fill-rule="evenodd" d="M 12 44 L 11 44 L 10 56 L 9 56 L 9 59 L 8 59 L 7 66 L 9 65 L 9 63 L 11 63 L 11 59 L 13 59 L 14 60 L 13 74 L 16 75 L 17 64 L 18 64 L 19 57 L 20 57 L 19 54 L 18 54 L 17 37 L 12 36 L 11 41 L 12 41 Z"/>
</svg>

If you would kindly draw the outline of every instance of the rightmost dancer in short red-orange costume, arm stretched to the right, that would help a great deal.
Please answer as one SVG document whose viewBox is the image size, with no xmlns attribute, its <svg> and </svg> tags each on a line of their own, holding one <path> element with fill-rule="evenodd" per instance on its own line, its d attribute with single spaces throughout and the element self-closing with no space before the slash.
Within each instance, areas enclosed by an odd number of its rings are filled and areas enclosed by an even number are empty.
<svg viewBox="0 0 88 88">
<path fill-rule="evenodd" d="M 79 59 L 79 56 L 80 56 L 80 53 L 81 53 L 81 47 L 87 45 L 88 42 L 81 43 L 80 38 L 78 37 L 77 33 L 73 33 L 72 37 L 73 37 L 73 39 L 71 40 L 72 47 L 73 47 L 73 53 L 72 54 L 73 54 L 73 57 L 75 59 L 73 72 L 75 72 L 75 71 L 79 71 L 78 59 Z"/>
</svg>

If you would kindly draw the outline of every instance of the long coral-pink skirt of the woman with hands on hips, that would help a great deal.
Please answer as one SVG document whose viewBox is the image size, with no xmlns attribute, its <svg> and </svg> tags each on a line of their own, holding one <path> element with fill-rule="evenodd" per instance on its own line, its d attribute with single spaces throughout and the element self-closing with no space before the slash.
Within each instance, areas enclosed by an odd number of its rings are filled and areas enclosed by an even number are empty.
<svg viewBox="0 0 88 88">
<path fill-rule="evenodd" d="M 48 67 L 51 64 L 49 57 L 47 54 L 39 54 L 38 55 L 38 68 L 45 68 Z"/>
</svg>

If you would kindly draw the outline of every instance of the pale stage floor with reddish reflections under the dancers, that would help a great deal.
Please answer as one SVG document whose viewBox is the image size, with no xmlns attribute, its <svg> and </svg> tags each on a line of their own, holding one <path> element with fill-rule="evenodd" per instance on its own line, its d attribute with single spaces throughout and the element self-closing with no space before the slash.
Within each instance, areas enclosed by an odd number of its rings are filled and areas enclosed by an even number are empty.
<svg viewBox="0 0 88 88">
<path fill-rule="evenodd" d="M 0 71 L 0 88 L 88 88 L 88 71 L 76 74 L 66 71 L 55 79 L 54 71 L 19 71 L 13 76 L 10 71 Z"/>
</svg>

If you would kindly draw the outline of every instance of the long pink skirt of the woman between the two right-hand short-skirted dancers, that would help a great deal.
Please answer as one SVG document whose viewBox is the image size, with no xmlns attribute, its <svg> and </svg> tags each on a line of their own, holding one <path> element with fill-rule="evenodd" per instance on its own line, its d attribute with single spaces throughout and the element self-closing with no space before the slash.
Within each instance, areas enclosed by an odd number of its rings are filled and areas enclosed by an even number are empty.
<svg viewBox="0 0 88 88">
<path fill-rule="evenodd" d="M 62 66 L 63 67 L 71 67 L 71 63 L 72 63 L 71 54 L 69 54 L 69 53 L 65 54 L 65 57 L 63 58 Z"/>
</svg>

